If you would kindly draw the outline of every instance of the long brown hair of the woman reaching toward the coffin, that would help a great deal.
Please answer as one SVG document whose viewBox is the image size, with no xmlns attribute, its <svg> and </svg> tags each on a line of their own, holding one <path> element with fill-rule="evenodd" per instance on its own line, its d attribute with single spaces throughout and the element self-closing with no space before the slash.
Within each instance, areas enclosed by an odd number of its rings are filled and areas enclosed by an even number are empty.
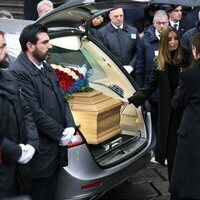
<svg viewBox="0 0 200 200">
<path fill-rule="evenodd" d="M 168 42 L 169 42 L 168 37 L 170 32 L 175 32 L 179 41 L 178 47 L 174 51 L 173 56 L 168 48 Z M 180 36 L 178 34 L 178 31 L 174 27 L 169 26 L 163 30 L 160 37 L 158 57 L 156 59 L 157 69 L 164 71 L 167 69 L 168 64 L 178 65 L 181 63 L 182 59 L 183 59 L 183 53 L 180 44 Z"/>
</svg>

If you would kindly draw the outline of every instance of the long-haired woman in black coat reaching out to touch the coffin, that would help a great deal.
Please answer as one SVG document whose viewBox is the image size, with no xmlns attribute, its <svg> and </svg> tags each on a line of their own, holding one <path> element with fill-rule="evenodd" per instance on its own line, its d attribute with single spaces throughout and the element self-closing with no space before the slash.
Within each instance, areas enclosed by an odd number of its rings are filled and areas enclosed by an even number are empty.
<svg viewBox="0 0 200 200">
<path fill-rule="evenodd" d="M 168 163 L 168 175 L 170 178 L 173 165 L 176 144 L 177 129 L 180 116 L 172 107 L 172 97 L 178 86 L 182 61 L 182 49 L 178 32 L 167 27 L 161 34 L 159 53 L 155 60 L 149 81 L 139 89 L 126 103 L 133 103 L 136 107 L 142 105 L 150 95 L 158 88 L 158 134 L 155 148 L 155 159 L 160 164 Z"/>
</svg>

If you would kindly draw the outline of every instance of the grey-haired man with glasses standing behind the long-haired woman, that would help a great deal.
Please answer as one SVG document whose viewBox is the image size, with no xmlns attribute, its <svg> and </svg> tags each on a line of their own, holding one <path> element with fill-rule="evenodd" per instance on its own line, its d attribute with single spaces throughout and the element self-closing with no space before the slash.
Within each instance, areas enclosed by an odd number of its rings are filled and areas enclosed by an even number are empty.
<svg viewBox="0 0 200 200">
<path fill-rule="evenodd" d="M 160 34 L 169 25 L 168 15 L 164 10 L 158 10 L 154 14 L 153 25 L 147 28 L 141 39 L 140 48 L 135 61 L 135 81 L 143 87 L 149 80 L 151 70 L 154 66 L 154 59 L 158 55 L 158 43 Z M 152 123 L 154 131 L 157 129 L 158 120 L 158 92 L 150 98 Z"/>
</svg>

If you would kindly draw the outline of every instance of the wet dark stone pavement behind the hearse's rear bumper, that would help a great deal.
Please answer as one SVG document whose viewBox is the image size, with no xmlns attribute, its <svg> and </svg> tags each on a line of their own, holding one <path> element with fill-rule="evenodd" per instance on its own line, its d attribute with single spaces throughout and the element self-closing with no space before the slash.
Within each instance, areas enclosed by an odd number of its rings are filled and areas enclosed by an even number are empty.
<svg viewBox="0 0 200 200">
<path fill-rule="evenodd" d="M 114 189 L 100 200 L 169 200 L 166 166 L 154 161 Z"/>
</svg>

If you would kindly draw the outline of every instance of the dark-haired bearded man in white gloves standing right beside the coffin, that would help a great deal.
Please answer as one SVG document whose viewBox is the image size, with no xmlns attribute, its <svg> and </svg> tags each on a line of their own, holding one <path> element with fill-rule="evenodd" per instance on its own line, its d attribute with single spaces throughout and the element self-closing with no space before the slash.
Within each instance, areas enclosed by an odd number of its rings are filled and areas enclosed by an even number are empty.
<svg viewBox="0 0 200 200">
<path fill-rule="evenodd" d="M 67 147 L 75 123 L 56 78 L 45 61 L 52 48 L 46 27 L 33 24 L 20 35 L 22 52 L 10 71 L 21 85 L 39 132 L 33 159 L 33 200 L 54 200 L 59 169 L 67 165 Z"/>
</svg>

